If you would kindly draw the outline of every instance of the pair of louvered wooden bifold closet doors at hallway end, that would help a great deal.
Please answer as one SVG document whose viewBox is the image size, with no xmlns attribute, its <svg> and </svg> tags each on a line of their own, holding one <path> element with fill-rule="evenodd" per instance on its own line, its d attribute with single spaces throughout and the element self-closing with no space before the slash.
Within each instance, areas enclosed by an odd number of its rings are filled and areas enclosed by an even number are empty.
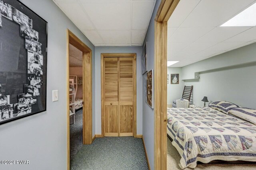
<svg viewBox="0 0 256 170">
<path fill-rule="evenodd" d="M 102 86 L 104 136 L 134 136 L 136 57 L 103 57 Z"/>
</svg>

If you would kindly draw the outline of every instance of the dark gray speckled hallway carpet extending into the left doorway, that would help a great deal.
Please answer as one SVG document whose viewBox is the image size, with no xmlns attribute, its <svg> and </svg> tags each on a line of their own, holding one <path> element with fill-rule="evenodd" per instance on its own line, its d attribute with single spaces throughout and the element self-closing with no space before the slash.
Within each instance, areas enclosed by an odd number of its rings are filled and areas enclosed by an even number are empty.
<svg viewBox="0 0 256 170">
<path fill-rule="evenodd" d="M 96 138 L 82 144 L 82 110 L 70 125 L 71 170 L 148 170 L 142 139 L 133 137 Z"/>
</svg>

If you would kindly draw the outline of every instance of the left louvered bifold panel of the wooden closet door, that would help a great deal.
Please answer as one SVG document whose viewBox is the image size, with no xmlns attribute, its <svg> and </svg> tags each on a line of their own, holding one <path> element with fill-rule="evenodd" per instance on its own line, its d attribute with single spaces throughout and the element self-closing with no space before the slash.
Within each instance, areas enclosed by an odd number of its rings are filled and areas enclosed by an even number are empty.
<svg viewBox="0 0 256 170">
<path fill-rule="evenodd" d="M 104 58 L 105 136 L 118 136 L 118 58 Z"/>
</svg>

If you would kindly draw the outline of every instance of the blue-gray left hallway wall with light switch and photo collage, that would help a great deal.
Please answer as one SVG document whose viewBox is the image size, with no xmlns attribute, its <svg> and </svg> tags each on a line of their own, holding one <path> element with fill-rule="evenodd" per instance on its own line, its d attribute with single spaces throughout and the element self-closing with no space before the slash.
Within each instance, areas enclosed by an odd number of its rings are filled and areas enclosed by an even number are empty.
<svg viewBox="0 0 256 170">
<path fill-rule="evenodd" d="M 0 160 L 30 161 L 29 165 L 0 165 L 0 169 L 66 170 L 66 29 L 70 29 L 92 49 L 93 64 L 94 45 L 52 0 L 21 0 L 21 2 L 44 18 L 49 24 L 47 111 L 0 126 Z M 51 101 L 52 90 L 59 91 L 58 102 Z M 94 96 L 94 91 L 92 96 Z M 95 105 L 94 102 L 93 105 Z M 93 119 L 95 120 L 94 112 L 93 110 Z M 93 127 L 95 126 L 94 122 Z M 95 129 L 93 128 L 94 134 Z"/>
</svg>

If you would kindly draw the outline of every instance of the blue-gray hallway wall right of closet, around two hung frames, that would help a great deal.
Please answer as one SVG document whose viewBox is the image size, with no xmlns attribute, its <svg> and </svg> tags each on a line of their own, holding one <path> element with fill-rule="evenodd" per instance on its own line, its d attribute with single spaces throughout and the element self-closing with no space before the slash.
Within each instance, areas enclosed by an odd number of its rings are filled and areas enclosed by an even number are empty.
<svg viewBox="0 0 256 170">
<path fill-rule="evenodd" d="M 156 12 L 160 5 L 161 0 L 156 1 L 154 12 L 150 19 L 150 24 L 148 26 L 148 31 L 144 40 L 144 45 L 148 42 L 148 71 L 154 69 L 154 19 L 156 17 Z M 148 160 L 150 168 L 154 170 L 154 110 L 145 102 L 142 97 L 142 111 L 143 111 L 143 138 L 148 154 Z"/>
</svg>

